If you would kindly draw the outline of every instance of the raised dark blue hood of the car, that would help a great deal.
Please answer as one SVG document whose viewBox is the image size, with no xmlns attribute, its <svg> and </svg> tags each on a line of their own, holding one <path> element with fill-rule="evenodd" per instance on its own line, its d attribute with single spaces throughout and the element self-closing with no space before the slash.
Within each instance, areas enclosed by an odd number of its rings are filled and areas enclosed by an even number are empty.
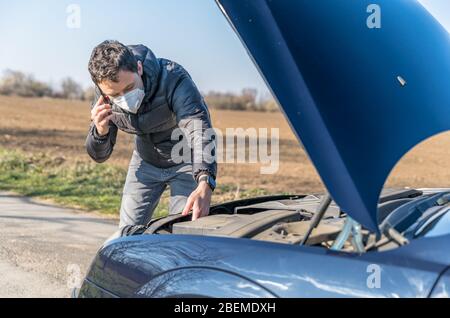
<svg viewBox="0 0 450 318">
<path fill-rule="evenodd" d="M 377 0 L 381 28 L 373 1 L 216 1 L 333 199 L 378 231 L 390 171 L 450 129 L 449 33 L 415 0 Z"/>
</svg>

